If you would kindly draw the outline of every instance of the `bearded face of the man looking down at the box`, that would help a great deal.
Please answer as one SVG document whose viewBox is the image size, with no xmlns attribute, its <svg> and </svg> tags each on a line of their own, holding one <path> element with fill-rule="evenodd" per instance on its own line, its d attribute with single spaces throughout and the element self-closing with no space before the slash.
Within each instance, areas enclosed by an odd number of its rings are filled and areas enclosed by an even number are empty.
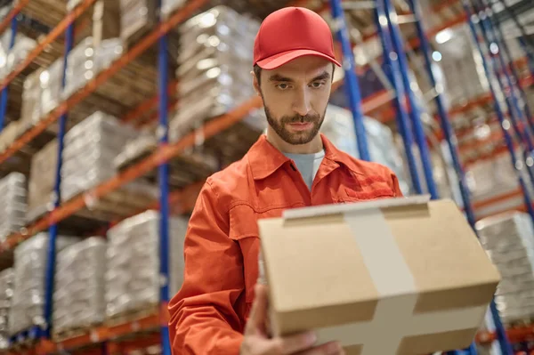
<svg viewBox="0 0 534 355">
<path fill-rule="evenodd" d="M 305 56 L 273 70 L 262 70 L 265 115 L 271 130 L 289 144 L 306 144 L 319 133 L 332 87 L 333 65 Z"/>
</svg>

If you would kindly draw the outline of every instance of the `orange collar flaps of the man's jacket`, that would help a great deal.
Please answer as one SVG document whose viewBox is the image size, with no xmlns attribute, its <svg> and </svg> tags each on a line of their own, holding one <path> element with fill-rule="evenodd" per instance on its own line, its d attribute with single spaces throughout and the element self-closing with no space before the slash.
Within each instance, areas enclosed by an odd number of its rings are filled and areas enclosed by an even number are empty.
<svg viewBox="0 0 534 355">
<path fill-rule="evenodd" d="M 325 149 L 325 163 L 330 168 L 328 170 L 334 170 L 339 165 L 346 165 L 349 169 L 358 173 L 358 167 L 350 157 L 338 150 L 323 133 L 320 133 L 320 138 Z M 247 158 L 254 180 L 262 180 L 269 177 L 280 166 L 290 161 L 270 141 L 267 141 L 265 134 L 262 134 L 258 141 L 248 150 Z"/>
</svg>

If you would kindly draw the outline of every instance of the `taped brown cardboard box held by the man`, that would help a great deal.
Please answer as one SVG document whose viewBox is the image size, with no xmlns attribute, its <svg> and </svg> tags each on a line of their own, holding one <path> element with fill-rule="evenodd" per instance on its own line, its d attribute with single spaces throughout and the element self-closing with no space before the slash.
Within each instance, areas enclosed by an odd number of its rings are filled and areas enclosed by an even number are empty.
<svg viewBox="0 0 534 355">
<path fill-rule="evenodd" d="M 258 225 L 273 335 L 313 329 L 351 355 L 468 347 L 500 279 L 449 200 L 290 209 Z"/>
</svg>

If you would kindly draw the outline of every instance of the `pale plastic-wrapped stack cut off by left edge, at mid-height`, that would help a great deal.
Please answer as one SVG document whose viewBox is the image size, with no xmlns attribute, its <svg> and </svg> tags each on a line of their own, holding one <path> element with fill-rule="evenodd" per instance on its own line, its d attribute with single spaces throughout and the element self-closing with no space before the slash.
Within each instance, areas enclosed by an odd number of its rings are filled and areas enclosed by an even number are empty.
<svg viewBox="0 0 534 355">
<path fill-rule="evenodd" d="M 26 225 L 26 176 L 10 173 L 0 180 L 0 241 Z"/>
</svg>

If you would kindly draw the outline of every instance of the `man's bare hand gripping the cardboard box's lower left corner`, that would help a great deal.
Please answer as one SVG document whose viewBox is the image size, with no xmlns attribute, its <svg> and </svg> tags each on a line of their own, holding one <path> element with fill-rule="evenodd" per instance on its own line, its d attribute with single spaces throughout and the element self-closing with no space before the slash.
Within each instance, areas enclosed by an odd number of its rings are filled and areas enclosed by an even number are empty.
<svg viewBox="0 0 534 355">
<path fill-rule="evenodd" d="M 250 311 L 250 318 L 245 328 L 245 338 L 241 344 L 240 355 L 343 355 L 343 348 L 338 343 L 326 343 L 313 346 L 316 336 L 313 333 L 291 335 L 283 338 L 267 336 L 265 321 L 267 319 L 266 286 L 255 286 L 255 301 Z"/>
</svg>

